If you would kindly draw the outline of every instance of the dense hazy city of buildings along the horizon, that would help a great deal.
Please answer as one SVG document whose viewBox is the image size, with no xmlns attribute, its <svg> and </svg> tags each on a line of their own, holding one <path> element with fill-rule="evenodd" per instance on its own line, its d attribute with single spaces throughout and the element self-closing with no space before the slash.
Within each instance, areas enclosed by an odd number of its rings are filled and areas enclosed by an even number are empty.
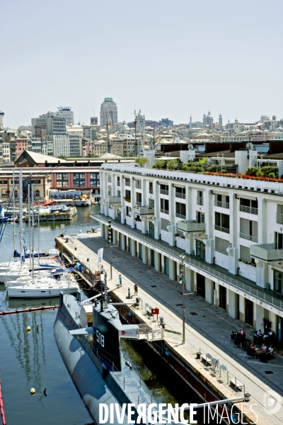
<svg viewBox="0 0 283 425">
<path fill-rule="evenodd" d="M 193 144 L 196 153 L 207 152 L 207 143 L 260 142 L 264 146 L 258 152 L 267 154 L 268 142 L 283 140 L 283 118 L 276 116 L 262 115 L 255 123 L 241 123 L 236 118 L 230 123 L 223 120 L 221 113 L 215 119 L 208 111 L 202 120 L 192 120 L 190 116 L 188 123 L 174 125 L 168 118 L 148 120 L 141 111 L 135 111 L 134 120 L 126 123 L 119 122 L 117 104 L 112 98 L 105 98 L 101 104 L 99 124 L 97 117 L 91 117 L 89 123 L 75 123 L 71 107 L 59 107 L 57 112 L 31 118 L 30 125 L 18 129 L 6 127 L 4 115 L 0 111 L 0 164 L 15 162 L 24 150 L 62 158 L 101 157 L 105 153 L 131 157 L 144 149 L 160 152 L 166 145 L 187 149 Z M 166 149 L 170 150 L 176 149 Z"/>
</svg>

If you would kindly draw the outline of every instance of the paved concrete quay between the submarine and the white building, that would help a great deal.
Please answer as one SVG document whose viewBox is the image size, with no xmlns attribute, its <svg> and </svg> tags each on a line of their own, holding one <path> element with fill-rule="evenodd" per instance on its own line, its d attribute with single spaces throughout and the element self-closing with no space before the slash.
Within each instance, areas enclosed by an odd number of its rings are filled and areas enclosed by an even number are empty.
<svg viewBox="0 0 283 425">
<path fill-rule="evenodd" d="M 188 295 L 186 297 L 185 344 L 182 344 L 182 288 L 179 283 L 173 282 L 168 276 L 155 271 L 154 267 L 144 264 L 141 259 L 133 257 L 129 252 L 122 251 L 120 247 L 112 247 L 112 280 L 110 279 L 110 246 L 108 242 L 97 234 L 79 234 L 69 237 L 71 246 L 65 238 L 57 238 L 57 244 L 64 247 L 69 254 L 79 259 L 91 271 L 97 270 L 97 251 L 104 248 L 103 265 L 108 271 L 108 288 L 118 284 L 118 276 L 122 274 L 122 288 L 115 290 L 115 296 L 127 301 L 128 288 L 134 294 L 134 283 L 139 285 L 138 296 L 141 298 L 141 307 L 132 308 L 133 313 L 141 322 L 146 322 L 151 327 L 157 323 L 144 312 L 144 305 L 159 307 L 160 315 L 166 323 L 164 342 L 170 353 L 183 358 L 183 361 L 195 370 L 202 382 L 216 390 L 219 398 L 239 397 L 243 394 L 240 390 L 229 385 L 231 378 L 235 378 L 244 385 L 244 392 L 250 393 L 250 402 L 243 406 L 246 412 L 246 422 L 257 424 L 283 424 L 283 409 L 276 401 L 282 402 L 283 395 L 283 363 L 281 358 L 275 358 L 268 363 L 260 363 L 258 359 L 247 358 L 246 351 L 234 347 L 230 341 L 231 331 L 238 331 L 243 326 L 239 320 L 229 317 L 227 312 L 219 307 L 210 305 L 202 297 Z M 75 249 L 76 248 L 76 249 Z M 86 259 L 90 261 L 86 262 Z M 245 326 L 246 334 L 253 339 L 254 329 Z M 219 368 L 213 370 L 196 353 L 209 353 L 216 358 L 220 365 L 225 365 L 229 371 Z M 228 382 L 227 382 L 228 381 Z M 268 399 L 275 399 L 270 407 Z M 188 400 L 190 402 L 190 400 Z M 254 404 L 253 412 L 250 410 Z M 279 409 L 277 409 L 277 406 Z M 241 409 L 241 405 L 238 404 Z"/>
</svg>

